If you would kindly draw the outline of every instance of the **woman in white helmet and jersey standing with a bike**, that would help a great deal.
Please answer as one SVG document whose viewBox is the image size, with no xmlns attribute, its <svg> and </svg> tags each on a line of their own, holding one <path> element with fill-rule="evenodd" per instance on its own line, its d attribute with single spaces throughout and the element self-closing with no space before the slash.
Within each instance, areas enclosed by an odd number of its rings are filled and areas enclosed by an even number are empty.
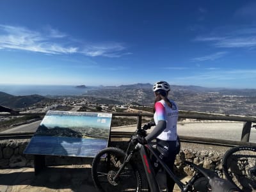
<svg viewBox="0 0 256 192">
<path fill-rule="evenodd" d="M 156 127 L 145 138 L 138 136 L 141 144 L 149 143 L 156 139 L 156 148 L 159 157 L 173 171 L 173 165 L 176 155 L 180 150 L 179 137 L 177 136 L 177 120 L 179 111 L 177 104 L 173 100 L 168 99 L 170 92 L 170 84 L 166 81 L 157 81 L 153 86 L 154 95 L 154 122 Z M 155 173 L 159 171 L 159 164 L 156 157 L 152 157 Z M 175 182 L 166 174 L 167 191 L 173 191 Z"/>
</svg>

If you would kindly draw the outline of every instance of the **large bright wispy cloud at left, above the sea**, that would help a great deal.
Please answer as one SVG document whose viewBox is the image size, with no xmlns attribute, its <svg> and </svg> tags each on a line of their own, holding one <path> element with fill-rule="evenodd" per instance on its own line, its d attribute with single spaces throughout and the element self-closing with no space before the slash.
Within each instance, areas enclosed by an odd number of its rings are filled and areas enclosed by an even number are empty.
<svg viewBox="0 0 256 192">
<path fill-rule="evenodd" d="M 123 44 L 112 42 L 102 44 L 78 44 L 49 26 L 44 31 L 32 31 L 20 26 L 0 25 L 0 49 L 42 52 L 47 54 L 73 54 L 118 58 L 127 52 Z"/>
</svg>

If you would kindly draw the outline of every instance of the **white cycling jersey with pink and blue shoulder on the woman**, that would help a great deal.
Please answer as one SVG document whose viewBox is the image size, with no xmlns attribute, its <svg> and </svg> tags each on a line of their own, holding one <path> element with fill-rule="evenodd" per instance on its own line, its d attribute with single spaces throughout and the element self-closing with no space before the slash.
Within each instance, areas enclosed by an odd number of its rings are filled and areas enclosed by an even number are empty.
<svg viewBox="0 0 256 192">
<path fill-rule="evenodd" d="M 159 102 L 156 102 L 155 108 L 156 113 L 154 113 L 154 121 L 157 124 L 159 120 L 165 120 L 166 121 L 166 129 L 164 129 L 157 138 L 159 140 L 164 141 L 176 141 L 177 140 L 177 121 L 179 117 L 179 110 L 177 108 L 177 105 L 175 102 L 170 100 L 172 103 L 172 108 L 164 102 L 164 100 L 160 100 Z"/>
</svg>

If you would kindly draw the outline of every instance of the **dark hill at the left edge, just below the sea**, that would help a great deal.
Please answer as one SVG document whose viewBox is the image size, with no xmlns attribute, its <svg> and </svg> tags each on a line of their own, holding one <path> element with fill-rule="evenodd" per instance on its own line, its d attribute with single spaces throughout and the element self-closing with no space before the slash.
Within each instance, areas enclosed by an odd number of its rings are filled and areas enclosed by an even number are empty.
<svg viewBox="0 0 256 192">
<path fill-rule="evenodd" d="M 24 108 L 25 103 L 26 107 L 29 107 L 44 100 L 49 99 L 40 95 L 13 96 L 8 93 L 0 92 L 0 105 L 12 109 Z"/>
</svg>

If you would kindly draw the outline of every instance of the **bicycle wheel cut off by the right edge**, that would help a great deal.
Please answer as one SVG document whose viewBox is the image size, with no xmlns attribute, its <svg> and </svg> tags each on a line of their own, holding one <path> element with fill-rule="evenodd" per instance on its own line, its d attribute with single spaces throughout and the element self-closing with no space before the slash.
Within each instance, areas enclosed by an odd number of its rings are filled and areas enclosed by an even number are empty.
<svg viewBox="0 0 256 192">
<path fill-rule="evenodd" d="M 256 191 L 256 147 L 230 148 L 221 164 L 226 179 L 243 191 Z"/>
</svg>

